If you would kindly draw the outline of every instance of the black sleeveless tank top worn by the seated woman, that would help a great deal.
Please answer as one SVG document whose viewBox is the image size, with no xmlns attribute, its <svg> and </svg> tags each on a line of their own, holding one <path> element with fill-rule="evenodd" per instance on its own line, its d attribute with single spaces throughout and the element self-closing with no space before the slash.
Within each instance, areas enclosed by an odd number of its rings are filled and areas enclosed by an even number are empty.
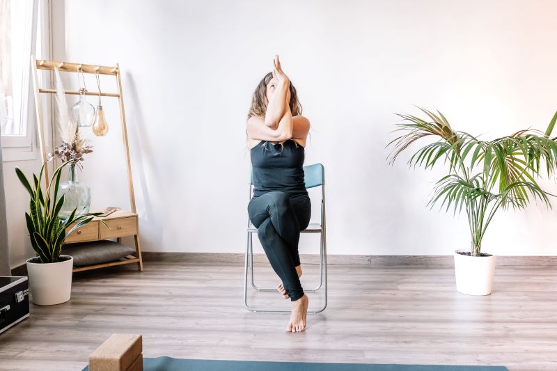
<svg viewBox="0 0 557 371">
<path fill-rule="evenodd" d="M 283 191 L 289 197 L 308 195 L 304 183 L 304 147 L 288 139 L 282 144 L 260 141 L 251 148 L 253 197 Z"/>
</svg>

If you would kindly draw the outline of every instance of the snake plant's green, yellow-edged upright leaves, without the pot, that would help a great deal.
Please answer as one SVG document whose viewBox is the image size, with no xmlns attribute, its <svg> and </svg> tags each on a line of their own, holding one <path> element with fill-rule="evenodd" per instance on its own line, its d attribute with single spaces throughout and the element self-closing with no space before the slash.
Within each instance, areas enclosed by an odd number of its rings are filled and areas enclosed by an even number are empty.
<svg viewBox="0 0 557 371">
<path fill-rule="evenodd" d="M 43 193 L 41 187 L 42 173 L 45 170 L 45 164 L 43 164 L 40 169 L 39 177 L 33 174 L 33 186 L 31 186 L 31 183 L 23 171 L 18 167 L 15 168 L 15 173 L 19 181 L 22 182 L 25 189 L 29 192 L 29 196 L 31 196 L 29 213 L 25 213 L 25 220 L 27 223 L 27 230 L 29 230 L 31 246 L 33 246 L 33 250 L 36 252 L 41 263 L 58 262 L 65 238 L 77 228 L 89 223 L 94 216 L 102 214 L 97 212 L 76 215 L 76 209 L 74 209 L 68 219 L 61 219 L 61 217 L 58 216 L 64 203 L 63 195 L 57 198 L 58 184 L 60 184 L 62 168 L 70 164 L 70 162 L 71 161 L 66 161 L 56 168 L 45 193 Z M 54 197 L 51 198 L 50 194 L 53 180 L 55 181 Z M 77 224 L 66 232 L 66 229 L 75 222 L 77 222 Z"/>
</svg>

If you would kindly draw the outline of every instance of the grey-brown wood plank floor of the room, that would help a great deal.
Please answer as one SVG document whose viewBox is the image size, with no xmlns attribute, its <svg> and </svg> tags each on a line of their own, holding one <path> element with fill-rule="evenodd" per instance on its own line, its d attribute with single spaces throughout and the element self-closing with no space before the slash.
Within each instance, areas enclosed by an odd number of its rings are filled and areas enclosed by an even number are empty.
<svg viewBox="0 0 557 371">
<path fill-rule="evenodd" d="M 317 266 L 302 267 L 309 287 Z M 81 370 L 111 333 L 141 334 L 146 357 L 557 370 L 555 267 L 497 267 L 494 292 L 469 297 L 456 292 L 450 266 L 329 265 L 329 306 L 308 315 L 304 333 L 284 331 L 287 313 L 244 308 L 242 265 L 135 269 L 75 274 L 70 301 L 32 305 L 31 317 L 0 334 L 0 370 Z M 273 275 L 256 266 L 258 284 L 276 285 Z M 274 292 L 255 298 L 290 305 Z"/>
</svg>

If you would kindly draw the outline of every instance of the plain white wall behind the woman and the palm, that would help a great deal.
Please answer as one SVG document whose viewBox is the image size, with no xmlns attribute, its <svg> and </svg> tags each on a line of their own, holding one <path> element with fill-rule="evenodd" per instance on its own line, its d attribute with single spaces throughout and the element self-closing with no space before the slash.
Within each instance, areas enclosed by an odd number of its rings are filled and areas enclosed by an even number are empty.
<svg viewBox="0 0 557 371">
<path fill-rule="evenodd" d="M 244 251 L 245 117 L 274 54 L 312 123 L 306 164 L 326 169 L 331 254 L 469 246 L 464 215 L 425 207 L 441 169 L 410 170 L 410 153 L 387 165 L 393 113 L 439 109 L 455 129 L 492 138 L 545 129 L 557 109 L 551 0 L 53 3 L 54 59 L 120 63 L 144 251 Z M 118 107 L 104 106 L 111 132 L 93 138 L 80 179 L 93 207 L 127 207 Z M 555 255 L 556 222 L 541 205 L 501 212 L 485 251 Z M 314 243 L 302 237 L 301 252 Z"/>
</svg>

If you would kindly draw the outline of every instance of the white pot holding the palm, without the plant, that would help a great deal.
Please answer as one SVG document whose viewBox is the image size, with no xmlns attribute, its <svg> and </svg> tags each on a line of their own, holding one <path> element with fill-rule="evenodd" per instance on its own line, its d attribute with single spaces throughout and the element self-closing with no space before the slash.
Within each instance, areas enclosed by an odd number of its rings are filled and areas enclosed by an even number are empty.
<svg viewBox="0 0 557 371">
<path fill-rule="evenodd" d="M 468 295 L 492 293 L 495 256 L 467 256 L 455 251 L 457 291 Z"/>
</svg>

